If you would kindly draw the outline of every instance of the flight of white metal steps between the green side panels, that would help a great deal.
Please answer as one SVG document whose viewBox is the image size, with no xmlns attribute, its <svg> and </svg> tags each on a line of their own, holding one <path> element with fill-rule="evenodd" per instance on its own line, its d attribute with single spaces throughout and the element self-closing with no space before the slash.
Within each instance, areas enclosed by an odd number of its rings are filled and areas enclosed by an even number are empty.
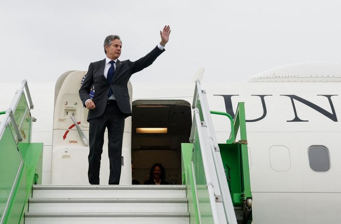
<svg viewBox="0 0 341 224">
<path fill-rule="evenodd" d="M 182 185 L 33 186 L 25 224 L 188 224 Z"/>
</svg>

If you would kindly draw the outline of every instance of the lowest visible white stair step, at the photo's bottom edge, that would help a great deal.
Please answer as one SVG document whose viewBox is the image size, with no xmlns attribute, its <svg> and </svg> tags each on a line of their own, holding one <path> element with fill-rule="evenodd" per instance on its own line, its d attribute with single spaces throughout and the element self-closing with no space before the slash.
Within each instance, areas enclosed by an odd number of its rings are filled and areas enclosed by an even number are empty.
<svg viewBox="0 0 341 224">
<path fill-rule="evenodd" d="M 188 212 L 27 212 L 25 224 L 188 224 Z"/>
</svg>

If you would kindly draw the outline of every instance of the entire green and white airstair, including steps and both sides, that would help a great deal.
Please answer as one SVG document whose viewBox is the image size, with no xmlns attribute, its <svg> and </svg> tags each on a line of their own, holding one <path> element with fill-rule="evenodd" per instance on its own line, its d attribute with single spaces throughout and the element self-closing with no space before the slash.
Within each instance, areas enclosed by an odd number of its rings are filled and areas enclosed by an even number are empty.
<svg viewBox="0 0 341 224">
<path fill-rule="evenodd" d="M 234 120 L 210 111 L 196 81 L 192 107 L 191 143 L 182 144 L 183 185 L 43 186 L 43 146 L 30 140 L 33 104 L 23 81 L 1 113 L 0 167 L 8 172 L 0 179 L 0 223 L 251 223 L 244 104 Z M 231 120 L 226 144 L 217 144 L 211 114 Z"/>
</svg>

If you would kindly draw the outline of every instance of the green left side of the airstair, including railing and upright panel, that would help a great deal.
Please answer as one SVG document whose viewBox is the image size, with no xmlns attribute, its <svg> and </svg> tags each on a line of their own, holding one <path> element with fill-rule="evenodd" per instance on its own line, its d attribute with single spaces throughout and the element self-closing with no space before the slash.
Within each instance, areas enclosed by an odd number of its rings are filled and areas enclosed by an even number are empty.
<svg viewBox="0 0 341 224">
<path fill-rule="evenodd" d="M 1 111 L 0 223 L 24 223 L 32 186 L 41 184 L 43 143 L 31 143 L 33 104 L 23 80 L 10 107 Z"/>
</svg>

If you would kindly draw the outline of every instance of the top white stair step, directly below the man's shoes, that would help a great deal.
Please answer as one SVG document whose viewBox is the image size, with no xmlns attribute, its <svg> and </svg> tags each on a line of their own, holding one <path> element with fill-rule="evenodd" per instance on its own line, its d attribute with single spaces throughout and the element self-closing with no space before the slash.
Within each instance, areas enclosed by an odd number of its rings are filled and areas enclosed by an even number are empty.
<svg viewBox="0 0 341 224">
<path fill-rule="evenodd" d="M 33 198 L 186 198 L 184 185 L 34 185 Z"/>
</svg>

